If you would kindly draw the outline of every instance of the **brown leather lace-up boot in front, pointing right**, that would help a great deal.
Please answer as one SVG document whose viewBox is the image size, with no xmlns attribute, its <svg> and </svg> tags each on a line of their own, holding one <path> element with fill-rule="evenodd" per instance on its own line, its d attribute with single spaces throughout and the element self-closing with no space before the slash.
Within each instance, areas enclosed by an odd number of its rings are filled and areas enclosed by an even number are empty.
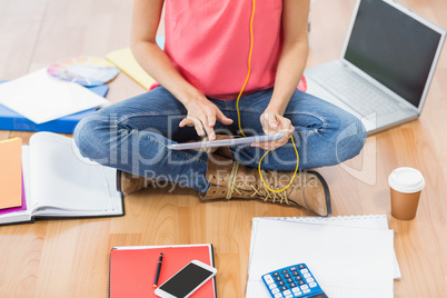
<svg viewBox="0 0 447 298">
<path fill-rule="evenodd" d="M 280 190 L 287 187 L 292 171 L 266 171 L 262 177 L 269 188 Z M 329 188 L 325 179 L 315 171 L 297 172 L 289 188 L 281 192 L 268 190 L 257 168 L 239 165 L 238 161 L 211 153 L 208 159 L 208 191 L 200 193 L 202 200 L 213 199 L 261 199 L 264 201 L 301 206 L 319 216 L 331 213 Z"/>
</svg>

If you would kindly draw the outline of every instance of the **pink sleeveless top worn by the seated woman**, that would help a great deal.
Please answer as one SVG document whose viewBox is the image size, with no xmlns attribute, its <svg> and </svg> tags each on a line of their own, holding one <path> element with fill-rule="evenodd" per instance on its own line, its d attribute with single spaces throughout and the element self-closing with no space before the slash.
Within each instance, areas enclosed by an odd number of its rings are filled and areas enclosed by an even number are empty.
<svg viewBox="0 0 447 298">
<path fill-rule="evenodd" d="M 248 71 L 251 0 L 166 0 L 165 52 L 203 95 L 236 99 Z M 274 87 L 281 0 L 256 1 L 251 74 L 244 95 Z"/>
</svg>

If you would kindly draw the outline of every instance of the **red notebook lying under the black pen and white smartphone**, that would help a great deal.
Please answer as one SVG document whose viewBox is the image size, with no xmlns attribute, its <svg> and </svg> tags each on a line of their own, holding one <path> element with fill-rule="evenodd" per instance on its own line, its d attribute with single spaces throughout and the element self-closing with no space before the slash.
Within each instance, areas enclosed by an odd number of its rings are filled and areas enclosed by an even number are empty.
<svg viewBox="0 0 447 298">
<path fill-rule="evenodd" d="M 115 247 L 110 251 L 109 297 L 158 297 L 153 294 L 153 279 L 160 252 L 163 252 L 163 262 L 158 285 L 163 284 L 191 260 L 215 266 L 212 245 L 209 244 Z M 191 298 L 217 297 L 215 278 L 208 280 Z"/>
</svg>

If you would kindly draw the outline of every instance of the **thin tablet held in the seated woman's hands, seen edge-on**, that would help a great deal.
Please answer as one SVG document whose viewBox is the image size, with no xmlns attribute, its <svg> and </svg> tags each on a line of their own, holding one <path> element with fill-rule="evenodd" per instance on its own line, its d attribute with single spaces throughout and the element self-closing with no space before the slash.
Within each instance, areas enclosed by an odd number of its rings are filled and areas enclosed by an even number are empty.
<svg viewBox="0 0 447 298">
<path fill-rule="evenodd" d="M 173 145 L 168 146 L 168 148 L 172 149 L 172 150 L 187 150 L 187 149 L 198 149 L 198 148 L 208 148 L 208 147 L 235 146 L 235 145 L 244 145 L 244 143 L 252 143 L 252 142 L 262 142 L 262 141 L 276 141 L 282 137 L 284 137 L 284 133 L 275 133 L 275 135 L 254 136 L 254 137 L 246 137 L 246 138 L 232 138 L 232 139 L 216 140 L 216 141 L 173 143 Z"/>
</svg>

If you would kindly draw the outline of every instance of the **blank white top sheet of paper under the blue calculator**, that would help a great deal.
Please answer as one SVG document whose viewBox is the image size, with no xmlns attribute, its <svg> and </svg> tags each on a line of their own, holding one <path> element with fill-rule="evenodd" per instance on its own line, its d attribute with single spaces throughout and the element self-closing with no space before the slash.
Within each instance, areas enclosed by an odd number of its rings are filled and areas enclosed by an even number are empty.
<svg viewBox="0 0 447 298">
<path fill-rule="evenodd" d="M 393 297 L 393 230 L 255 220 L 247 298 L 269 298 L 261 276 L 298 262 L 331 298 Z"/>
</svg>

